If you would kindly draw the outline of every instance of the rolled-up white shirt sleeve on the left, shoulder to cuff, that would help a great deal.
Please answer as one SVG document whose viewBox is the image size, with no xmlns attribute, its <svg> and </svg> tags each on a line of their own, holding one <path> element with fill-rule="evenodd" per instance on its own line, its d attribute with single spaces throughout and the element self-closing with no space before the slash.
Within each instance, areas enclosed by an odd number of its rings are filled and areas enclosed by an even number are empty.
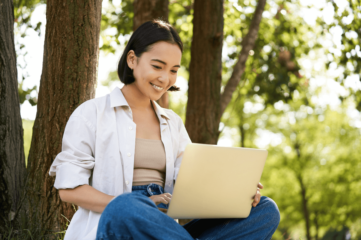
<svg viewBox="0 0 361 240">
<path fill-rule="evenodd" d="M 56 176 L 56 189 L 89 184 L 94 167 L 96 128 L 79 114 L 70 116 L 62 140 L 61 152 L 51 165 L 49 175 Z"/>
</svg>

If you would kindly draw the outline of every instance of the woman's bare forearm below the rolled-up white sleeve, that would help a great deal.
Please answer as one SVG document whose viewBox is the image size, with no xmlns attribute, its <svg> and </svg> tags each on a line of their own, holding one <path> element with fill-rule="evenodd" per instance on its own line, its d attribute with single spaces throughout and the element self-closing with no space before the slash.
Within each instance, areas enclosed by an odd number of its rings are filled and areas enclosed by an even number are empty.
<svg viewBox="0 0 361 240">
<path fill-rule="evenodd" d="M 106 205 L 114 198 L 89 185 L 59 189 L 59 196 L 62 201 L 99 213 L 102 213 Z"/>
</svg>

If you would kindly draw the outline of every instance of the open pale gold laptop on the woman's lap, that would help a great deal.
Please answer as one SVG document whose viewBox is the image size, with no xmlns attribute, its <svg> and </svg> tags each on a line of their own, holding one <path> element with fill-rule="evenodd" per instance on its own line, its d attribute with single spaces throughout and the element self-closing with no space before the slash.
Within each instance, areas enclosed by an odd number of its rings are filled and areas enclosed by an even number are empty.
<svg viewBox="0 0 361 240">
<path fill-rule="evenodd" d="M 264 149 L 188 144 L 168 216 L 248 217 L 267 155 Z"/>
</svg>

